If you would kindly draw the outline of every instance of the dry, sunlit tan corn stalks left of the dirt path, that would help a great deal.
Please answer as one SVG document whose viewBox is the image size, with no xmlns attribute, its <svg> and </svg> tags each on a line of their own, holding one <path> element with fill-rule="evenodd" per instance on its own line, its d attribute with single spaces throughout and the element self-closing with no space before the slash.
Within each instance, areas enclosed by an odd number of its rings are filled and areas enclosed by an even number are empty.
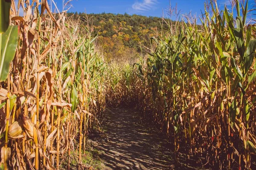
<svg viewBox="0 0 256 170">
<path fill-rule="evenodd" d="M 52 13 L 47 0 L 19 0 L 18 8 L 6 2 L 19 36 L 0 89 L 1 168 L 59 169 L 68 159 L 70 169 L 76 146 L 83 167 L 87 132 L 105 108 L 105 63 L 90 26 L 80 27 L 65 12 Z"/>
</svg>

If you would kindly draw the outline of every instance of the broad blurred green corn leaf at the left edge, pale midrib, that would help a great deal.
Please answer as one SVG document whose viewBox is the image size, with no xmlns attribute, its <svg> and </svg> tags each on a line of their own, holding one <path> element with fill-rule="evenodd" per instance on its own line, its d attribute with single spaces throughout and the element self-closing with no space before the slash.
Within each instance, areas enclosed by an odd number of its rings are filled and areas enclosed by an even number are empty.
<svg viewBox="0 0 256 170">
<path fill-rule="evenodd" d="M 14 59 L 18 44 L 18 26 L 9 26 L 7 31 L 0 34 L 1 55 L 0 55 L 0 82 L 6 80 L 9 74 L 10 62 Z"/>
</svg>

